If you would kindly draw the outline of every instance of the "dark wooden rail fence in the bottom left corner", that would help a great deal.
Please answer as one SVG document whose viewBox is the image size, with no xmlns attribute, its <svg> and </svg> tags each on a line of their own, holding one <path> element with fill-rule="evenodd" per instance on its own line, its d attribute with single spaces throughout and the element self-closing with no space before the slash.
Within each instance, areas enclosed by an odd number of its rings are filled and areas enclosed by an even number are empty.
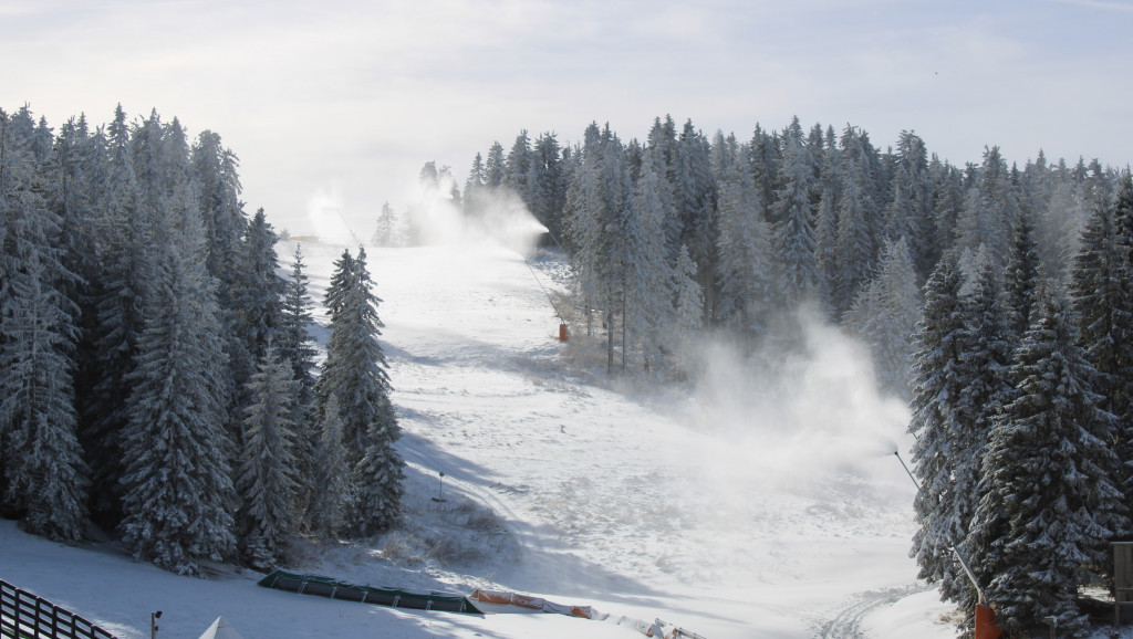
<svg viewBox="0 0 1133 639">
<path fill-rule="evenodd" d="M 0 580 L 0 637 L 116 639 L 90 621 Z"/>
</svg>

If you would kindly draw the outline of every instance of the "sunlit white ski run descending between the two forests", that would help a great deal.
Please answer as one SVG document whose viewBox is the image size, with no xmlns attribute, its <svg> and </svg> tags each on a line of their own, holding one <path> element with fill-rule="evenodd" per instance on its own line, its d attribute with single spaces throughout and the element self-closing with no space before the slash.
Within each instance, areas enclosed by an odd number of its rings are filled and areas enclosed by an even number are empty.
<svg viewBox="0 0 1133 639">
<path fill-rule="evenodd" d="M 878 460 L 881 479 L 828 468 L 768 477 L 765 458 L 736 459 L 759 434 L 695 431 L 688 394 L 571 374 L 559 317 L 520 255 L 491 245 L 369 255 L 407 460 L 445 472 L 520 540 L 519 556 L 477 566 L 494 582 L 611 612 L 624 603 L 713 637 L 775 616 L 783 636 L 804 636 L 854 593 L 913 583 L 900 467 Z M 534 267 L 561 281 L 561 263 Z M 701 616 L 701 606 L 729 612 Z"/>
</svg>

